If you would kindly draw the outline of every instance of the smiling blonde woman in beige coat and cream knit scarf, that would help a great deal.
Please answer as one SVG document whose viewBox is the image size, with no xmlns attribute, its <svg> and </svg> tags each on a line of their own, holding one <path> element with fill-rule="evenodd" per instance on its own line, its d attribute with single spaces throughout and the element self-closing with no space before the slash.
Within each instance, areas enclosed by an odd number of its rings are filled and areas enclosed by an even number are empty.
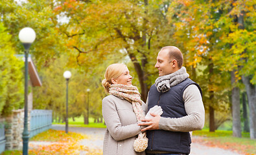
<svg viewBox="0 0 256 155">
<path fill-rule="evenodd" d="M 110 94 L 102 100 L 102 115 L 107 129 L 104 136 L 104 155 L 140 155 L 148 145 L 146 132 L 137 125 L 145 118 L 146 105 L 126 65 L 115 63 L 105 72 L 102 85 Z"/>
</svg>

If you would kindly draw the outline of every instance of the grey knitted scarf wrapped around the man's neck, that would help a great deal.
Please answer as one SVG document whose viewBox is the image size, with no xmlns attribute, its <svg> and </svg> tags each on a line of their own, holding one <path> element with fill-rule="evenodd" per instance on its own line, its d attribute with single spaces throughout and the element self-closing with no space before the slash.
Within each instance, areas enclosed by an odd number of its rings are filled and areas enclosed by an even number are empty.
<svg viewBox="0 0 256 155">
<path fill-rule="evenodd" d="M 166 76 L 160 76 L 156 79 L 155 85 L 158 92 L 168 92 L 170 87 L 178 85 L 185 79 L 189 78 L 185 67 L 181 67 L 179 70 Z"/>
</svg>

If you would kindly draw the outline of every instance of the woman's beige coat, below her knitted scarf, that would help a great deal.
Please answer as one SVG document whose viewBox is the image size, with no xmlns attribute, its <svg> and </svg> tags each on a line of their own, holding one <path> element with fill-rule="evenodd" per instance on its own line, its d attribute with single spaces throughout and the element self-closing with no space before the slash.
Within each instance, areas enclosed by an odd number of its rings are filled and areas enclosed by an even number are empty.
<svg viewBox="0 0 256 155">
<path fill-rule="evenodd" d="M 142 105 L 143 111 L 146 105 Z M 107 129 L 104 136 L 104 155 L 144 155 L 145 152 L 134 151 L 134 140 L 142 129 L 132 103 L 125 99 L 110 95 L 102 100 L 102 115 Z"/>
</svg>

